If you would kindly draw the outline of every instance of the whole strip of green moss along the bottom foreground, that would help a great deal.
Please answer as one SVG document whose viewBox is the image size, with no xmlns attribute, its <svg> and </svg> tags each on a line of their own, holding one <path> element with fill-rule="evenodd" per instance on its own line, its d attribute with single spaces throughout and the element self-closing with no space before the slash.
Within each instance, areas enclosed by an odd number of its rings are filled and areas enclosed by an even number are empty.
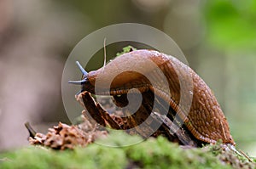
<svg viewBox="0 0 256 169">
<path fill-rule="evenodd" d="M 112 146 L 134 140 L 126 134 L 110 135 L 106 143 L 111 141 Z M 218 155 L 218 149 L 209 146 L 183 149 L 159 137 L 121 148 L 101 144 L 64 151 L 27 147 L 0 155 L 0 168 L 232 168 Z"/>
</svg>

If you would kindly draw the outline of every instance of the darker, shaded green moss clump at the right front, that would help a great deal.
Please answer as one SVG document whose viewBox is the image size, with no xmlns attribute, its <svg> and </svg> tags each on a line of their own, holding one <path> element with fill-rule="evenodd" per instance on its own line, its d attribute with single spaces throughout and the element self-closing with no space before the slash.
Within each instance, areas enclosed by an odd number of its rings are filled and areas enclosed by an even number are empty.
<svg viewBox="0 0 256 169">
<path fill-rule="evenodd" d="M 129 159 L 144 168 L 231 168 L 206 149 L 182 149 L 165 138 L 148 139 L 125 150 Z"/>
</svg>

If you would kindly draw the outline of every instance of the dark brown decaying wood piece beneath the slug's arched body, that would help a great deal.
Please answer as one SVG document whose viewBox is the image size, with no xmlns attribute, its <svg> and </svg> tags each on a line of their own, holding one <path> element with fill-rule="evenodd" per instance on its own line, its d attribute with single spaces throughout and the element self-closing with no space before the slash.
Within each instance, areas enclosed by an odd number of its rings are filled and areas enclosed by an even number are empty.
<svg viewBox="0 0 256 169">
<path fill-rule="evenodd" d="M 87 110 L 86 112 L 89 112 L 90 114 L 90 117 L 87 117 L 89 121 L 94 119 L 91 118 L 92 115 L 94 115 L 96 119 L 101 118 L 104 120 L 106 123 L 105 126 L 108 125 L 113 129 L 121 129 L 129 134 L 138 134 L 143 138 L 148 138 L 150 135 L 153 137 L 162 135 L 170 141 L 177 142 L 182 145 L 189 145 L 193 147 L 201 146 L 201 142 L 195 141 L 196 139 L 189 134 L 187 129 L 185 129 L 185 126 L 181 125 L 179 121 L 174 118 L 175 114 L 173 114 L 173 110 L 167 110 L 169 111 L 168 116 L 152 112 L 153 104 L 155 104 L 152 100 L 154 93 L 149 91 L 141 94 L 143 95 L 143 102 L 137 112 L 134 113 L 128 109 L 123 109 L 123 114 L 125 116 L 121 118 L 118 115 L 109 115 L 108 112 L 102 108 L 101 104 L 95 102 L 90 93 L 81 93 L 81 97 L 83 98 L 83 104 Z M 121 95 L 119 97 L 113 97 L 113 99 L 115 104 L 125 106 L 128 102 L 126 97 L 126 95 Z M 156 106 L 157 110 L 160 111 L 164 109 L 165 106 L 161 104 L 162 102 L 160 100 L 156 103 L 158 103 Z M 150 114 L 150 112 L 152 113 Z M 87 114 L 84 115 L 86 116 Z M 143 123 L 146 120 L 147 123 Z M 176 124 L 172 122 L 172 120 L 174 120 Z"/>
</svg>

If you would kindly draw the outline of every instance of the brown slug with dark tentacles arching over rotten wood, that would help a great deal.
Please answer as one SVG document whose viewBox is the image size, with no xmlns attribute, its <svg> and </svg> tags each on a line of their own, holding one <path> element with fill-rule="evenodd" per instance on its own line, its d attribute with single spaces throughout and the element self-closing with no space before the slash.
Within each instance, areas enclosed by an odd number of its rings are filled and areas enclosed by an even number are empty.
<svg viewBox="0 0 256 169">
<path fill-rule="evenodd" d="M 152 61 L 155 66 L 148 65 L 147 60 Z M 77 64 L 79 65 L 79 62 Z M 70 83 L 81 84 L 81 92 L 110 94 L 117 97 L 127 94 L 132 88 L 141 93 L 151 91 L 176 111 L 196 139 L 211 144 L 221 139 L 224 144 L 236 145 L 230 135 L 228 121 L 206 82 L 188 65 L 184 65 L 170 55 L 140 49 L 122 54 L 98 70 L 87 73 L 81 65 L 79 69 L 83 73 L 82 80 L 70 81 Z M 164 78 L 160 76 L 158 70 L 162 72 Z M 148 80 L 148 77 L 153 78 L 154 84 Z M 167 87 L 161 86 L 165 79 Z M 192 85 L 192 91 L 186 91 L 189 85 Z M 182 87 L 185 87 L 187 94 L 185 99 L 191 97 L 191 104 L 187 104 L 186 100 L 184 102 L 180 100 Z M 188 113 L 185 112 L 187 106 L 189 106 Z"/>
</svg>

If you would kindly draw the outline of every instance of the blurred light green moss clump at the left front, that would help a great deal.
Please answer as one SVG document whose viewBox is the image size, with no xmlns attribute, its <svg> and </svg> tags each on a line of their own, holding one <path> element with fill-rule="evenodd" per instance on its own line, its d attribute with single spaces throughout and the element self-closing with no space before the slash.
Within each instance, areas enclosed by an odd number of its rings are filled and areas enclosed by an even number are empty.
<svg viewBox="0 0 256 169">
<path fill-rule="evenodd" d="M 86 148 L 56 151 L 29 147 L 1 155 L 0 168 L 124 168 L 125 152 L 98 144 Z"/>
</svg>

